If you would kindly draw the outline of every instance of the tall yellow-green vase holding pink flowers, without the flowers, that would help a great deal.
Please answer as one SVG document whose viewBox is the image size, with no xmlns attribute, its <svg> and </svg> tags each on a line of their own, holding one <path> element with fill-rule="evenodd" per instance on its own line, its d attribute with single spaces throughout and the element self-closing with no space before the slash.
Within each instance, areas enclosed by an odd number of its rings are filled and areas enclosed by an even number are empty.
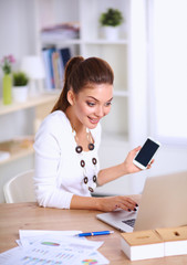
<svg viewBox="0 0 187 265">
<path fill-rule="evenodd" d="M 4 74 L 2 77 L 2 100 L 4 105 L 12 103 L 12 77 L 11 74 Z"/>
</svg>

